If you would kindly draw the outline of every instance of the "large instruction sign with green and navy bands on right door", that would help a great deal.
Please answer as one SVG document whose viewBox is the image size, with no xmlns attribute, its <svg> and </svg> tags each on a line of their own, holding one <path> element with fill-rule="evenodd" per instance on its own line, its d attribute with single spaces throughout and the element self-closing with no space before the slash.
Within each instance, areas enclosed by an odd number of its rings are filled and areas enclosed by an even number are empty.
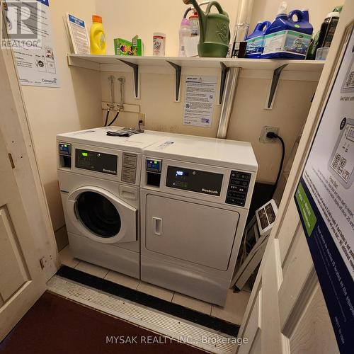
<svg viewBox="0 0 354 354">
<path fill-rule="evenodd" d="M 295 193 L 341 353 L 354 348 L 353 64 L 352 29 Z"/>
</svg>

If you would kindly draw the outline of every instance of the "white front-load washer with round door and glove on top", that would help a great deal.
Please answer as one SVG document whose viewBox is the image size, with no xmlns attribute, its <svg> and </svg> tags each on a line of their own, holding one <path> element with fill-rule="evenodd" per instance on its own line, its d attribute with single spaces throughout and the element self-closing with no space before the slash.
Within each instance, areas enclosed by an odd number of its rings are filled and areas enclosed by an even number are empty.
<svg viewBox="0 0 354 354">
<path fill-rule="evenodd" d="M 57 167 L 73 256 L 139 278 L 144 147 L 164 133 L 110 137 L 101 127 L 57 135 Z"/>
</svg>

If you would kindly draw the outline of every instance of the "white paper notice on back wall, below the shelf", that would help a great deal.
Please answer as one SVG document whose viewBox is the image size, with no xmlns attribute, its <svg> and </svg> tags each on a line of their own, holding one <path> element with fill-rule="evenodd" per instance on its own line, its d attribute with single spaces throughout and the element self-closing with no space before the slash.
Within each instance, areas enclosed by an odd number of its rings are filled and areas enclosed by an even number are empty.
<svg viewBox="0 0 354 354">
<path fill-rule="evenodd" d="M 183 124 L 211 127 L 217 76 L 187 76 Z"/>
</svg>

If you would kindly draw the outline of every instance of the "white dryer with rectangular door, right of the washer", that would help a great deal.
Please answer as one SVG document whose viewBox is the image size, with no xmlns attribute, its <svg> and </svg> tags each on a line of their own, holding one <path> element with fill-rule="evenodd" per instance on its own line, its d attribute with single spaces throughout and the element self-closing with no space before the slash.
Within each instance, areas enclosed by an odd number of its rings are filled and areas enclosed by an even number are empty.
<svg viewBox="0 0 354 354">
<path fill-rule="evenodd" d="M 142 280 L 224 305 L 256 181 L 251 144 L 171 136 L 142 164 Z"/>
</svg>

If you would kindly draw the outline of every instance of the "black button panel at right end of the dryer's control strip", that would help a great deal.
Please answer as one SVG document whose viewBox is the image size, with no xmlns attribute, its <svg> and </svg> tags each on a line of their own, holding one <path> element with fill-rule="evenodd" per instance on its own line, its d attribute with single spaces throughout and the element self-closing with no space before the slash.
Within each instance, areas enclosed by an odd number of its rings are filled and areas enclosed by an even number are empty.
<svg viewBox="0 0 354 354">
<path fill-rule="evenodd" d="M 250 181 L 251 173 L 231 171 L 225 202 L 227 204 L 244 207 Z"/>
</svg>

